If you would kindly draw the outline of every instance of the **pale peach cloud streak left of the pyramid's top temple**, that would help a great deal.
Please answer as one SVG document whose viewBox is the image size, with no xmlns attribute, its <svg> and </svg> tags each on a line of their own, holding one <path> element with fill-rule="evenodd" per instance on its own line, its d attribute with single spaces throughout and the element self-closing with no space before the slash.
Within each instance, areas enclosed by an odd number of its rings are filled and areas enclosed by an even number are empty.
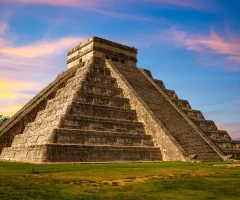
<svg viewBox="0 0 240 200">
<path fill-rule="evenodd" d="M 11 34 L 9 26 L 3 24 L 8 23 L 0 24 L 0 29 L 4 30 L 0 33 L 0 72 L 4 69 L 5 73 L 12 69 L 29 73 L 49 70 L 57 65 L 55 58 L 58 54 L 66 53 L 68 49 L 86 39 L 82 36 L 68 36 L 58 39 L 40 39 L 40 41 L 19 46 L 16 43 L 20 36 Z"/>
</svg>

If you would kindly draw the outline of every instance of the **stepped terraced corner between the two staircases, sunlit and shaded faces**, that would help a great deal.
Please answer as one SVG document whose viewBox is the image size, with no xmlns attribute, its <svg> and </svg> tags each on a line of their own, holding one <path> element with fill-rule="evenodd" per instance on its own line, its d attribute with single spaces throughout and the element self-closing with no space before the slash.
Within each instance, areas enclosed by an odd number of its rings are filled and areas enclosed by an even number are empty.
<svg viewBox="0 0 240 200">
<path fill-rule="evenodd" d="M 12 146 L 3 149 L 2 159 L 35 162 L 161 160 L 159 148 L 154 147 L 152 136 L 146 135 L 143 123 L 138 122 L 136 111 L 131 110 L 129 99 L 124 98 L 104 59 L 93 58 L 85 65 L 86 72 L 81 78 L 77 75 L 69 78 L 55 97 L 47 101 L 45 109 L 37 113 L 34 122 L 26 125 L 23 134 L 15 136 Z M 68 103 L 66 98 L 71 96 L 71 103 Z M 51 124 L 50 128 L 46 128 L 48 125 L 43 120 Z"/>
</svg>

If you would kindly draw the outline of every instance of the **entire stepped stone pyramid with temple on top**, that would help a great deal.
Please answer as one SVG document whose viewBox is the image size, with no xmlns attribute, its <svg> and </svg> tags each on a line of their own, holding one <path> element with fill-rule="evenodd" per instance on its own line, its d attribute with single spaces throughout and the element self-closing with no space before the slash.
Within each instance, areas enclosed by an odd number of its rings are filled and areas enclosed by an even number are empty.
<svg viewBox="0 0 240 200">
<path fill-rule="evenodd" d="M 1 126 L 0 159 L 240 159 L 240 141 L 136 63 L 137 49 L 98 37 L 71 49 L 68 69 Z"/>
</svg>

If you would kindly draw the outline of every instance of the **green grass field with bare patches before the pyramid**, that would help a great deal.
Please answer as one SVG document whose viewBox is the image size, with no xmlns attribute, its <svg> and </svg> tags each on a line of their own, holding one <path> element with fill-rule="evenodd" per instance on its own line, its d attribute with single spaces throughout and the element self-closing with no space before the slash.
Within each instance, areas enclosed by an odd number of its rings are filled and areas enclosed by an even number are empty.
<svg viewBox="0 0 240 200">
<path fill-rule="evenodd" d="M 0 162 L 0 199 L 240 199 L 240 163 Z"/>
</svg>

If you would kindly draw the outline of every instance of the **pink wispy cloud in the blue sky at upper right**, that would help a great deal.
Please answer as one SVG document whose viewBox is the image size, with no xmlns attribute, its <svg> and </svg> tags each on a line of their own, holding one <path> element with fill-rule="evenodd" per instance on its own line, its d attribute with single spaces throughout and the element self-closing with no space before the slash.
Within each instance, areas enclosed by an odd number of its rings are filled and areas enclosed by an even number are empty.
<svg viewBox="0 0 240 200">
<path fill-rule="evenodd" d="M 240 63 L 240 40 L 237 37 L 225 39 L 214 31 L 208 35 L 190 34 L 175 27 L 172 27 L 168 34 L 177 45 L 187 50 L 205 55 L 222 55 L 225 60 Z M 230 69 L 239 71 L 240 67 Z"/>
</svg>

